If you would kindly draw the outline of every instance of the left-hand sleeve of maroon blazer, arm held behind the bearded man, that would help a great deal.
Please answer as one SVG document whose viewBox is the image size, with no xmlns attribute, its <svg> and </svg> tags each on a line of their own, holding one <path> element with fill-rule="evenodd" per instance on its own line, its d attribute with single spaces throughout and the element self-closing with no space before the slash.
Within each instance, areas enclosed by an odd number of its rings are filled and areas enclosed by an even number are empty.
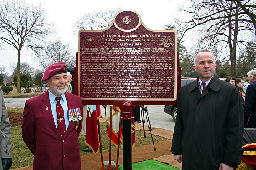
<svg viewBox="0 0 256 170">
<path fill-rule="evenodd" d="M 22 129 L 22 132 L 21 132 L 22 138 L 26 143 L 26 145 L 28 146 L 31 153 L 34 155 L 35 148 L 36 148 L 36 140 L 35 140 L 36 125 L 35 125 L 34 115 L 28 100 L 26 100 L 25 107 L 24 107 L 21 129 Z"/>
</svg>

